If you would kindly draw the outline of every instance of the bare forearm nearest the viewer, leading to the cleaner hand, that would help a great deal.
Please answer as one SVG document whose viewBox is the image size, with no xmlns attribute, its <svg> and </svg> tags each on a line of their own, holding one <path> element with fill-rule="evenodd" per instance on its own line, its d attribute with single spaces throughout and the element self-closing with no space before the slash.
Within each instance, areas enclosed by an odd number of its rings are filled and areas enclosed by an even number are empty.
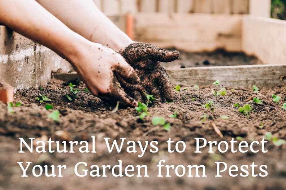
<svg viewBox="0 0 286 190">
<path fill-rule="evenodd" d="M 79 44 L 84 44 L 86 40 L 34 0 L 0 1 L 0 23 L 45 45 L 69 61 L 79 56 Z"/>
</svg>

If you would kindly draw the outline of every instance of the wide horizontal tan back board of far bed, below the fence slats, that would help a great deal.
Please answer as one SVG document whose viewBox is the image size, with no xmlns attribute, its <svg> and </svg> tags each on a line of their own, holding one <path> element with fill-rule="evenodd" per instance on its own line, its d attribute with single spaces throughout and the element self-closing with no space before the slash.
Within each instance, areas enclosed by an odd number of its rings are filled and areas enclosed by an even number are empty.
<svg viewBox="0 0 286 190">
<path fill-rule="evenodd" d="M 241 15 L 136 14 L 135 40 L 188 52 L 241 51 Z"/>
</svg>

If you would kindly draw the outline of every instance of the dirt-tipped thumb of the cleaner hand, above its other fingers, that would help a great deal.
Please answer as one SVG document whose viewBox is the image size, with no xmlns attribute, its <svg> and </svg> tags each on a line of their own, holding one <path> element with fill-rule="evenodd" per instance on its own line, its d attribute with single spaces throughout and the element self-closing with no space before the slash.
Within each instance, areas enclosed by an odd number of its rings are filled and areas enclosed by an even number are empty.
<svg viewBox="0 0 286 190">
<path fill-rule="evenodd" d="M 115 72 L 117 72 L 125 81 L 131 84 L 140 82 L 135 70 L 126 62 L 121 62 L 115 65 Z"/>
</svg>

